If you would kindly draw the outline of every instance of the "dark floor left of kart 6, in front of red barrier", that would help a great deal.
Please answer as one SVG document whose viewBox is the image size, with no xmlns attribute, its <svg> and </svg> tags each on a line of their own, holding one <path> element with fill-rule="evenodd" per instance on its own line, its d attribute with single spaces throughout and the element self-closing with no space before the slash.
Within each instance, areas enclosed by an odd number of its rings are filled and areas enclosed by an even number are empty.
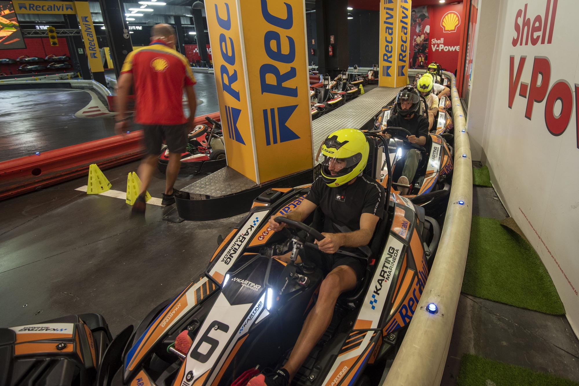
<svg viewBox="0 0 579 386">
<path fill-rule="evenodd" d="M 137 165 L 105 170 L 112 189 L 126 190 Z M 0 202 L 0 326 L 98 312 L 114 336 L 199 277 L 218 235 L 238 221 L 163 221 L 174 205 L 147 205 L 144 219 L 130 219 L 123 199 L 75 190 L 82 185 L 84 178 Z M 159 174 L 149 192 L 163 190 Z"/>
</svg>

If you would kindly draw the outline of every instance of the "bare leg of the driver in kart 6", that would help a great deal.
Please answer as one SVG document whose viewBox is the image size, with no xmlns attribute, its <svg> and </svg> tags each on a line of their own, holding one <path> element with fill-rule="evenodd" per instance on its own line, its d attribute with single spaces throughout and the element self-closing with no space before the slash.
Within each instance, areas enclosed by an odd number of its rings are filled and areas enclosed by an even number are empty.
<svg viewBox="0 0 579 386">
<path fill-rule="evenodd" d="M 337 266 L 322 281 L 316 305 L 308 314 L 290 359 L 284 365 L 290 373 L 290 382 L 332 321 L 338 296 L 354 287 L 356 287 L 356 272 L 347 265 Z"/>
</svg>

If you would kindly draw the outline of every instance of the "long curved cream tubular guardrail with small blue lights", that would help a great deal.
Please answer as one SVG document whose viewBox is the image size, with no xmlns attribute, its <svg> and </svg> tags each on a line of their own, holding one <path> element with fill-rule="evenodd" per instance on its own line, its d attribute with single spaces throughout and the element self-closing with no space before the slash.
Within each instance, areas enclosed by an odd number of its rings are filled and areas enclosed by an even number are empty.
<svg viewBox="0 0 579 386">
<path fill-rule="evenodd" d="M 472 162 L 456 78 L 449 72 L 445 72 L 445 75 L 451 79 L 455 123 L 455 170 L 449 205 L 433 267 L 400 350 L 386 375 L 384 386 L 439 385 L 455 324 L 470 239 Z M 426 311 L 430 303 L 437 305 L 437 313 Z"/>
</svg>

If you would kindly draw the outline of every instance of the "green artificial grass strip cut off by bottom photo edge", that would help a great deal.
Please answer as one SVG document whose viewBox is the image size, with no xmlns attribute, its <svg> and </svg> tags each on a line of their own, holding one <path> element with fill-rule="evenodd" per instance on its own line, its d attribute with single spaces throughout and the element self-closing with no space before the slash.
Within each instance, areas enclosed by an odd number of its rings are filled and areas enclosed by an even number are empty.
<svg viewBox="0 0 579 386">
<path fill-rule="evenodd" d="M 457 386 L 577 386 L 579 383 L 522 366 L 464 354 L 460 360 Z"/>
</svg>

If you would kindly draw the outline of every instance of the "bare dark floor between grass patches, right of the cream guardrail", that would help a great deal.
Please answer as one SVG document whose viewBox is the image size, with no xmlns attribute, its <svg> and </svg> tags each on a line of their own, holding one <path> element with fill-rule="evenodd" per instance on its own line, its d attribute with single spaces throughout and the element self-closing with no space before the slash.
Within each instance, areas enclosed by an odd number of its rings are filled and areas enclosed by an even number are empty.
<svg viewBox="0 0 579 386">
<path fill-rule="evenodd" d="M 497 220 L 508 216 L 493 188 L 475 186 L 472 198 L 472 214 Z M 456 384 L 464 354 L 579 382 L 579 340 L 565 316 L 461 294 L 441 385 Z"/>
</svg>

